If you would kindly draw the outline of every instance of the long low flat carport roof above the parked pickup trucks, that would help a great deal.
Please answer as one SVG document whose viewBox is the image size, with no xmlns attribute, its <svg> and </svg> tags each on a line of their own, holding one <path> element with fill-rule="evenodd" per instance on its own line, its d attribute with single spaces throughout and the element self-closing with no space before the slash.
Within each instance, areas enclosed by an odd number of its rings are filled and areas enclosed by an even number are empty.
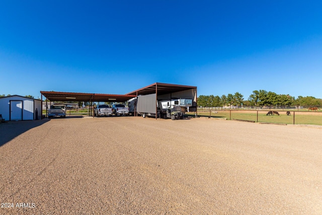
<svg viewBox="0 0 322 215">
<path fill-rule="evenodd" d="M 99 93 L 67 93 L 54 91 L 40 91 L 50 101 L 78 101 L 78 102 L 125 102 L 134 95 L 114 95 Z"/>
</svg>

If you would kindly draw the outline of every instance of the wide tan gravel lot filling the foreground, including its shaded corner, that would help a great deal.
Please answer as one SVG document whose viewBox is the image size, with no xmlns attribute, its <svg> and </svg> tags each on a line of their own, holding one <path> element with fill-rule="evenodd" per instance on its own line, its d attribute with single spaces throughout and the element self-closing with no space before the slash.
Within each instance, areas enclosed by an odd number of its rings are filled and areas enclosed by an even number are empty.
<svg viewBox="0 0 322 215">
<path fill-rule="evenodd" d="M 320 127 L 84 117 L 0 137 L 0 214 L 322 211 Z"/>
</svg>

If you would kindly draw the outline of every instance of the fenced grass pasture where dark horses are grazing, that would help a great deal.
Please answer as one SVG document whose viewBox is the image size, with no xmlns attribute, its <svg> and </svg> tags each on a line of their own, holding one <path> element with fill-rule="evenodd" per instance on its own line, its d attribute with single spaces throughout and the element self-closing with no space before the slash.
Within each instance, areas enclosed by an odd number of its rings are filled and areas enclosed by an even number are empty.
<svg viewBox="0 0 322 215">
<path fill-rule="evenodd" d="M 322 112 L 304 112 L 304 111 L 290 111 L 291 115 L 286 114 L 285 111 L 278 111 L 278 115 L 267 116 L 267 111 L 244 111 L 244 110 L 198 110 L 198 116 L 236 119 L 236 120 L 249 120 L 255 122 L 268 122 L 268 123 L 282 123 L 282 124 L 309 124 L 309 125 L 322 125 Z M 295 114 L 295 116 L 294 116 Z M 191 114 L 193 115 L 193 114 Z"/>
</svg>

